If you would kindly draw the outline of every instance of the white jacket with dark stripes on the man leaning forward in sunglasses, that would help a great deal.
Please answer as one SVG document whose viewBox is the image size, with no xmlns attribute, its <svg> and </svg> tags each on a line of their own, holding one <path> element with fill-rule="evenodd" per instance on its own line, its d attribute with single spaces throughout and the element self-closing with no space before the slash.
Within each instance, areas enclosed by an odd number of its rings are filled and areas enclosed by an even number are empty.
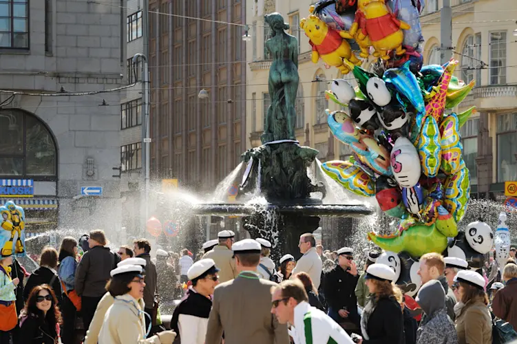
<svg viewBox="0 0 517 344">
<path fill-rule="evenodd" d="M 306 325 L 309 324 L 310 331 L 306 331 Z M 333 338 L 337 344 L 354 344 L 352 338 L 330 316 L 306 301 L 298 303 L 295 307 L 294 327 L 295 344 L 328 343 L 330 338 Z M 306 332 L 311 333 L 312 338 L 306 337 Z"/>
</svg>

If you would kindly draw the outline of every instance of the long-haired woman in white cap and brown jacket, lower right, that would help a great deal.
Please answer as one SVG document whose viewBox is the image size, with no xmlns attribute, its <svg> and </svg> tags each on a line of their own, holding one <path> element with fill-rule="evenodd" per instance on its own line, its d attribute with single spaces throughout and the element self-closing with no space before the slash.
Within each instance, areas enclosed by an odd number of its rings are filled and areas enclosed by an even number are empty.
<svg viewBox="0 0 517 344">
<path fill-rule="evenodd" d="M 488 311 L 485 279 L 477 272 L 461 270 L 454 277 L 452 288 L 460 299 L 454 306 L 456 332 L 460 344 L 492 343 L 492 317 Z"/>
</svg>

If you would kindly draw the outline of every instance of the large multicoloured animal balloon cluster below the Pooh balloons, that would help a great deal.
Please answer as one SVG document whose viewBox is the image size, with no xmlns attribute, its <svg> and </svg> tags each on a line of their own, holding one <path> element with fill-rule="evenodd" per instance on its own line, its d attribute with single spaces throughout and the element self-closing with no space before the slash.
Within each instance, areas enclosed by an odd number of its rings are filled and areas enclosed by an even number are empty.
<svg viewBox="0 0 517 344">
<path fill-rule="evenodd" d="M 401 219 L 390 236 L 369 233 L 378 246 L 420 257 L 443 252 L 469 200 L 469 171 L 459 130 L 474 107 L 456 114 L 472 89 L 452 76 L 457 61 L 412 71 L 411 62 L 381 74 L 349 64 L 357 80 L 334 80 L 329 99 L 347 110 L 327 110 L 335 138 L 356 159 L 330 161 L 322 169 L 357 195 L 376 197 L 386 215 Z"/>
</svg>

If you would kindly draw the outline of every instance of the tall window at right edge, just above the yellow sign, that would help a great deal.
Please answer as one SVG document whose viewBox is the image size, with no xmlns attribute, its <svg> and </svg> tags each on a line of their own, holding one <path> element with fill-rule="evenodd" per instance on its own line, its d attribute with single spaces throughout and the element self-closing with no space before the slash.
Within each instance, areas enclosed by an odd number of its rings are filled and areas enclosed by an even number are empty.
<svg viewBox="0 0 517 344">
<path fill-rule="evenodd" d="M 497 181 L 517 180 L 517 114 L 497 116 Z"/>
</svg>

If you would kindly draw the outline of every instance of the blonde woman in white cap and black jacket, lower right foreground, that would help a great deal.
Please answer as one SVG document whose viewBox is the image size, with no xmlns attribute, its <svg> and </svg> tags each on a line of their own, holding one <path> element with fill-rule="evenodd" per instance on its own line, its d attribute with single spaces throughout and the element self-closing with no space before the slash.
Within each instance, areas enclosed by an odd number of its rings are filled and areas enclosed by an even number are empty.
<svg viewBox="0 0 517 344">
<path fill-rule="evenodd" d="M 404 320 L 393 284 L 395 272 L 384 264 L 372 264 L 364 277 L 370 299 L 361 316 L 362 343 L 401 344 L 404 341 Z"/>
</svg>

